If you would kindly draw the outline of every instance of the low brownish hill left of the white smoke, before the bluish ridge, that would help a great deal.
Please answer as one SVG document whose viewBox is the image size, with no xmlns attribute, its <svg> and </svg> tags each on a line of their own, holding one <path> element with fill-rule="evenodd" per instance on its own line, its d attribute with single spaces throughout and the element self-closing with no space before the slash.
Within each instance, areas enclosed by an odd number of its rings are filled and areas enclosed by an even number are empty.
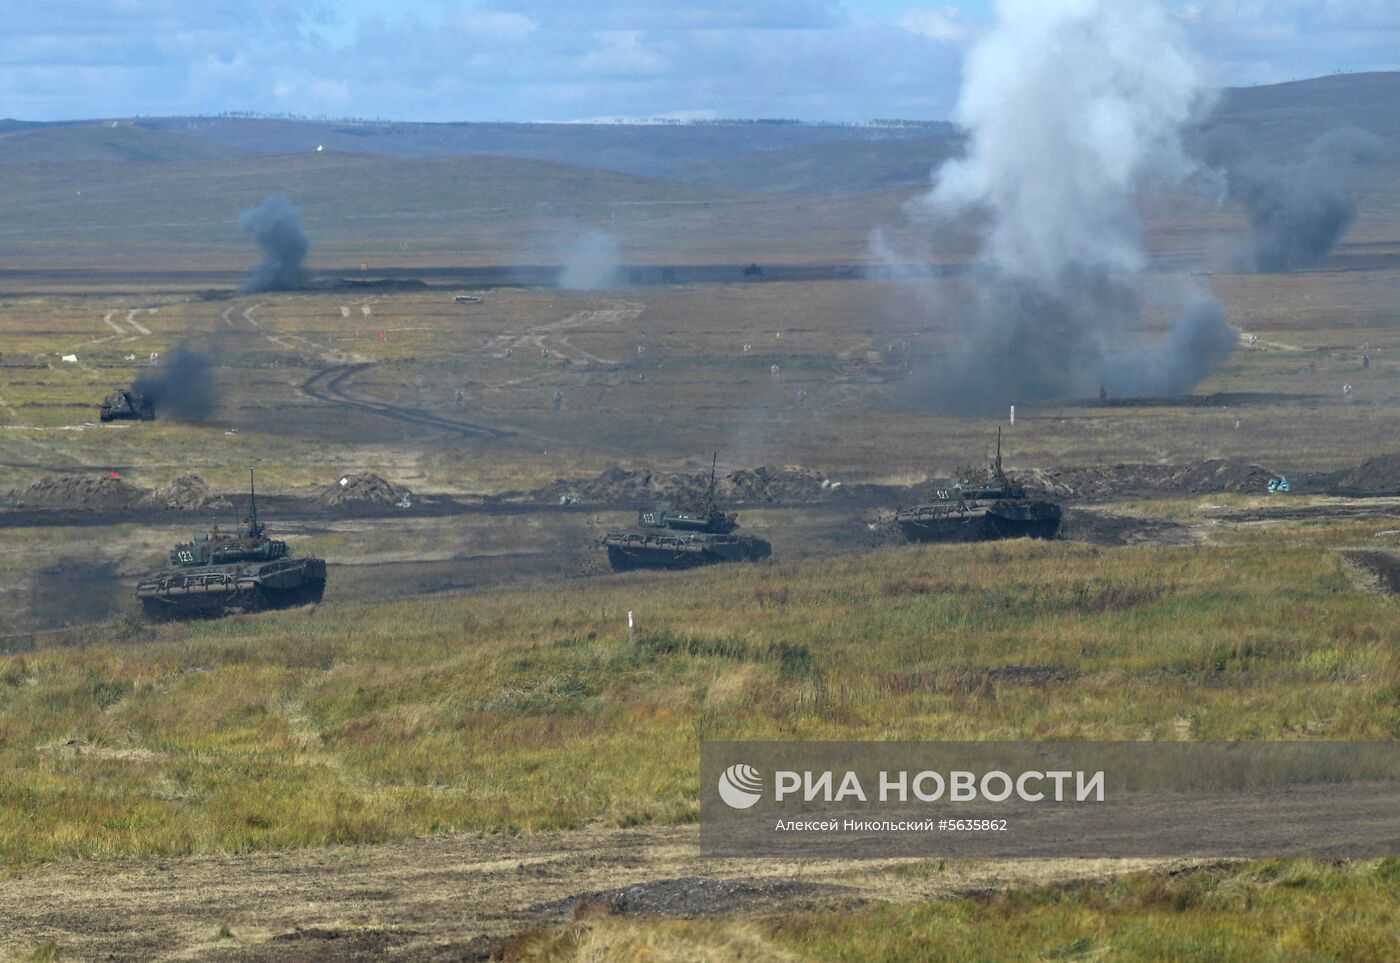
<svg viewBox="0 0 1400 963">
<path fill-rule="evenodd" d="M 627 263 L 830 263 L 858 258 L 904 196 L 812 203 L 511 157 L 335 151 L 11 164 L 3 176 L 0 272 L 246 270 L 256 249 L 238 214 L 274 192 L 302 210 L 314 273 L 550 265 L 585 230 L 612 232 Z"/>
</svg>

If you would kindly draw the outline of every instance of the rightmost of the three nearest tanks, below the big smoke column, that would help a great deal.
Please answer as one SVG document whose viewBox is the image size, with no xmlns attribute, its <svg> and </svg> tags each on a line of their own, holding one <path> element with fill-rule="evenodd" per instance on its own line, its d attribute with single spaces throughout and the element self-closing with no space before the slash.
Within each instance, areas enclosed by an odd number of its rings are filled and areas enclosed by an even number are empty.
<svg viewBox="0 0 1400 963">
<path fill-rule="evenodd" d="M 902 508 L 895 523 L 914 542 L 984 542 L 988 539 L 1053 539 L 1060 530 L 1060 505 L 1030 498 L 1001 470 L 1001 428 L 997 459 L 981 484 L 966 479 L 934 488 L 931 504 Z"/>
</svg>

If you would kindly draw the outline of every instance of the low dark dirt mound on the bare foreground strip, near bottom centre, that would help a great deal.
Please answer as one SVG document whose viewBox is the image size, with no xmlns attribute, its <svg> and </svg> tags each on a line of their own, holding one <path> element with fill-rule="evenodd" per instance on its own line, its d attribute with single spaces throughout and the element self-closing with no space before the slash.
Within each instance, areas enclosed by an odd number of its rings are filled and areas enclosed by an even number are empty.
<svg viewBox="0 0 1400 963">
<path fill-rule="evenodd" d="M 713 917 L 728 913 L 753 910 L 764 903 L 783 900 L 791 907 L 794 897 L 809 897 L 818 903 L 847 897 L 855 890 L 830 883 L 805 883 L 788 879 L 706 879 L 704 876 L 682 876 L 679 879 L 658 879 L 636 886 L 623 886 L 596 893 L 581 893 L 563 900 L 536 903 L 529 913 L 545 915 L 664 915 L 664 917 Z M 585 913 L 580 913 L 584 910 Z"/>
</svg>

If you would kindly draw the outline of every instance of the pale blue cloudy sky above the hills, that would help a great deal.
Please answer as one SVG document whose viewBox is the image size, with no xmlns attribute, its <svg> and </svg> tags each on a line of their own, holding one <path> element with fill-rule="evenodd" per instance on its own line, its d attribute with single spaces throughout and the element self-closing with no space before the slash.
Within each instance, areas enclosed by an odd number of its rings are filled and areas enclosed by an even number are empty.
<svg viewBox="0 0 1400 963">
<path fill-rule="evenodd" d="M 1400 69 L 1400 0 L 1163 3 L 1218 85 Z M 948 119 L 995 0 L 0 0 L 0 118 L 853 122 Z"/>
</svg>

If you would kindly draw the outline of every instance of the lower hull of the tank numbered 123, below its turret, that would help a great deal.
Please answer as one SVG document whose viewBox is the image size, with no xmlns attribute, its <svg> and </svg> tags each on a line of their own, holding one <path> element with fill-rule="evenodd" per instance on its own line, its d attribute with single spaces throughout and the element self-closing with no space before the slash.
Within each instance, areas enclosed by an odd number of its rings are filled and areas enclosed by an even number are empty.
<svg viewBox="0 0 1400 963">
<path fill-rule="evenodd" d="M 161 570 L 140 581 L 136 598 L 147 616 L 161 620 L 308 605 L 325 588 L 323 558 L 277 558 Z"/>
</svg>

